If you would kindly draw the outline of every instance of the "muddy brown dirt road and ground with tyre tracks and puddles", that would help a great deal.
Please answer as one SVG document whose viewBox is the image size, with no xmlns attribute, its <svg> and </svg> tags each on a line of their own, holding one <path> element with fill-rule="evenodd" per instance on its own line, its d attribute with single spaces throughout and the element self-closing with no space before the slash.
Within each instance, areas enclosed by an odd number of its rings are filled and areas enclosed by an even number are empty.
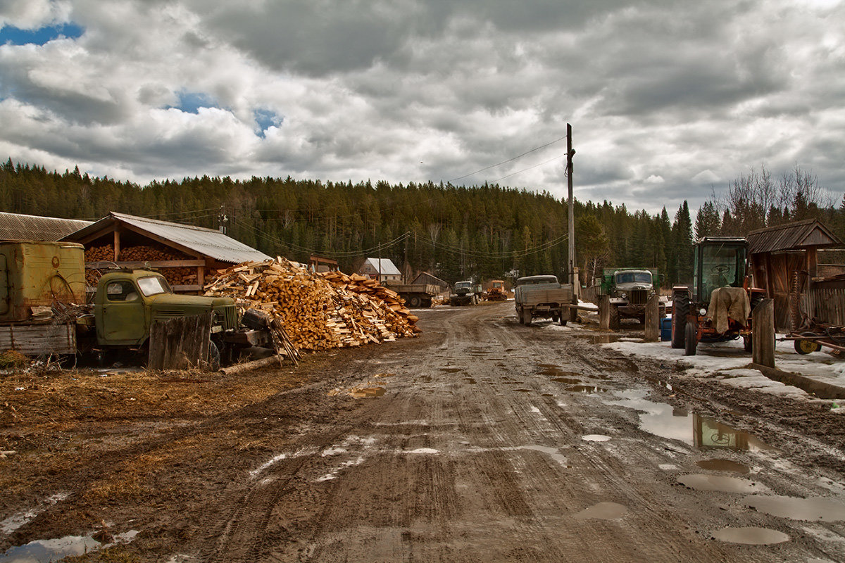
<svg viewBox="0 0 845 563">
<path fill-rule="evenodd" d="M 419 317 L 298 368 L 0 376 L 0 561 L 91 535 L 111 545 L 68 560 L 845 560 L 830 402 L 512 302 Z"/>
</svg>

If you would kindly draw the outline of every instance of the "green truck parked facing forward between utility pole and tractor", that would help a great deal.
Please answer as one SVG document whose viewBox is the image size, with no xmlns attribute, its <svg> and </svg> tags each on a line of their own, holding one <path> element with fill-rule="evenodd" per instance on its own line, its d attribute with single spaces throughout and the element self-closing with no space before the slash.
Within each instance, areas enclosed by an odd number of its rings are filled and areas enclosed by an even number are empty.
<svg viewBox="0 0 845 563">
<path fill-rule="evenodd" d="M 657 268 L 604 268 L 598 293 L 610 298 L 610 328 L 619 328 L 623 318 L 646 322 L 646 303 L 651 295 L 660 295 L 660 282 Z M 660 317 L 665 317 L 666 303 L 659 306 Z"/>
</svg>

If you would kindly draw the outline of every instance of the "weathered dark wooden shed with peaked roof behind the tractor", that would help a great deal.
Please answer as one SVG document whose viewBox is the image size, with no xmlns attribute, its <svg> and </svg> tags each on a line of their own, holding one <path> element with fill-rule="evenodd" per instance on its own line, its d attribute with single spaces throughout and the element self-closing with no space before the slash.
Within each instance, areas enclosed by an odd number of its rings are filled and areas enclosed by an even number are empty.
<svg viewBox="0 0 845 563">
<path fill-rule="evenodd" d="M 845 325 L 845 289 L 822 293 L 818 277 L 819 251 L 845 247 L 837 235 L 808 219 L 755 230 L 747 238 L 755 285 L 775 300 L 777 330 L 798 328 L 804 316 Z"/>
</svg>

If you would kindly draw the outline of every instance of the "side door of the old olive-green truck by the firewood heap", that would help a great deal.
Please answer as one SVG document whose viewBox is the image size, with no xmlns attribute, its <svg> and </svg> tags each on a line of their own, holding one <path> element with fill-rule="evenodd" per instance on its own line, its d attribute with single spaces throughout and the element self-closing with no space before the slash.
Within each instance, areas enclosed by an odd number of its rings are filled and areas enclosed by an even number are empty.
<svg viewBox="0 0 845 563">
<path fill-rule="evenodd" d="M 102 308 L 101 344 L 136 344 L 147 336 L 144 300 L 132 281 L 108 282 Z"/>
</svg>

